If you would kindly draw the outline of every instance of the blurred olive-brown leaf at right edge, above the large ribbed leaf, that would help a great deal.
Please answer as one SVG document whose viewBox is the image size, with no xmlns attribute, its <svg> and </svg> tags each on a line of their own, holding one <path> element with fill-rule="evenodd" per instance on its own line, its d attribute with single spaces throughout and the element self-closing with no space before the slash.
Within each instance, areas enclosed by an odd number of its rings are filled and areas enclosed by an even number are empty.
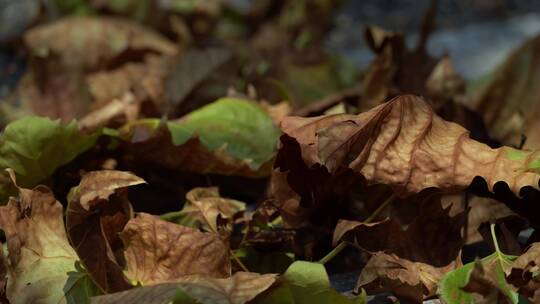
<svg viewBox="0 0 540 304">
<path fill-rule="evenodd" d="M 471 96 L 470 106 L 482 115 L 490 135 L 506 145 L 519 146 L 523 134 L 525 148 L 540 148 L 539 48 L 539 36 L 525 42 Z"/>
</svg>

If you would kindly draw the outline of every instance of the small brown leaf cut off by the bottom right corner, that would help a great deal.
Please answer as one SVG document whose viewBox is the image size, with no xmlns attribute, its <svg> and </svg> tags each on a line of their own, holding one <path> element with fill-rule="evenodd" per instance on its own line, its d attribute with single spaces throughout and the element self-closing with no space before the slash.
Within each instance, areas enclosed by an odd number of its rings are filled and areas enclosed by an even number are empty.
<svg viewBox="0 0 540 304">
<path fill-rule="evenodd" d="M 527 251 L 512 263 L 507 280 L 516 286 L 520 294 L 533 303 L 540 299 L 540 243 L 533 243 Z"/>
</svg>

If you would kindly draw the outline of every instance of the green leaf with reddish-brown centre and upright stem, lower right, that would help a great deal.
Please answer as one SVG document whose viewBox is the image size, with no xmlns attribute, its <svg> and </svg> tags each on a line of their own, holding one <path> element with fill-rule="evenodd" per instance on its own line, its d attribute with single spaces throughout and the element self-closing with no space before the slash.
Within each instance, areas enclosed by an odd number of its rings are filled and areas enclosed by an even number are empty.
<svg viewBox="0 0 540 304">
<path fill-rule="evenodd" d="M 518 294 L 506 282 L 515 256 L 500 251 L 447 273 L 439 283 L 437 293 L 448 304 L 518 303 Z"/>
</svg>

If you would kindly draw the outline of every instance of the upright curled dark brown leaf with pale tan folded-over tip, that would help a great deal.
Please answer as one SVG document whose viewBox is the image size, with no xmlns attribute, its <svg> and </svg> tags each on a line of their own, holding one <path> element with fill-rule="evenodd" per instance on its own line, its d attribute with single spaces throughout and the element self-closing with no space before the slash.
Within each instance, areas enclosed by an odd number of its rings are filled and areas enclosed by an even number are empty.
<svg viewBox="0 0 540 304">
<path fill-rule="evenodd" d="M 71 244 L 96 284 L 106 292 L 131 287 L 123 275 L 118 233 L 133 217 L 126 188 L 145 181 L 129 172 L 85 174 L 68 196 L 66 226 Z"/>
</svg>

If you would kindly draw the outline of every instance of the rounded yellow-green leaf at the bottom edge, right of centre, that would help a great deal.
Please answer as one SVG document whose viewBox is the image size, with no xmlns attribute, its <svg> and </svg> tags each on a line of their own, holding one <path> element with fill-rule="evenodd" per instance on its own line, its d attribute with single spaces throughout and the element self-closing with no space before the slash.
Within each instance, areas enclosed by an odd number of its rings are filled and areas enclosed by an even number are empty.
<svg viewBox="0 0 540 304">
<path fill-rule="evenodd" d="M 324 266 L 320 263 L 296 261 L 283 275 L 285 281 L 277 289 L 257 297 L 257 304 L 360 304 L 365 295 L 348 298 L 330 286 Z"/>
</svg>

